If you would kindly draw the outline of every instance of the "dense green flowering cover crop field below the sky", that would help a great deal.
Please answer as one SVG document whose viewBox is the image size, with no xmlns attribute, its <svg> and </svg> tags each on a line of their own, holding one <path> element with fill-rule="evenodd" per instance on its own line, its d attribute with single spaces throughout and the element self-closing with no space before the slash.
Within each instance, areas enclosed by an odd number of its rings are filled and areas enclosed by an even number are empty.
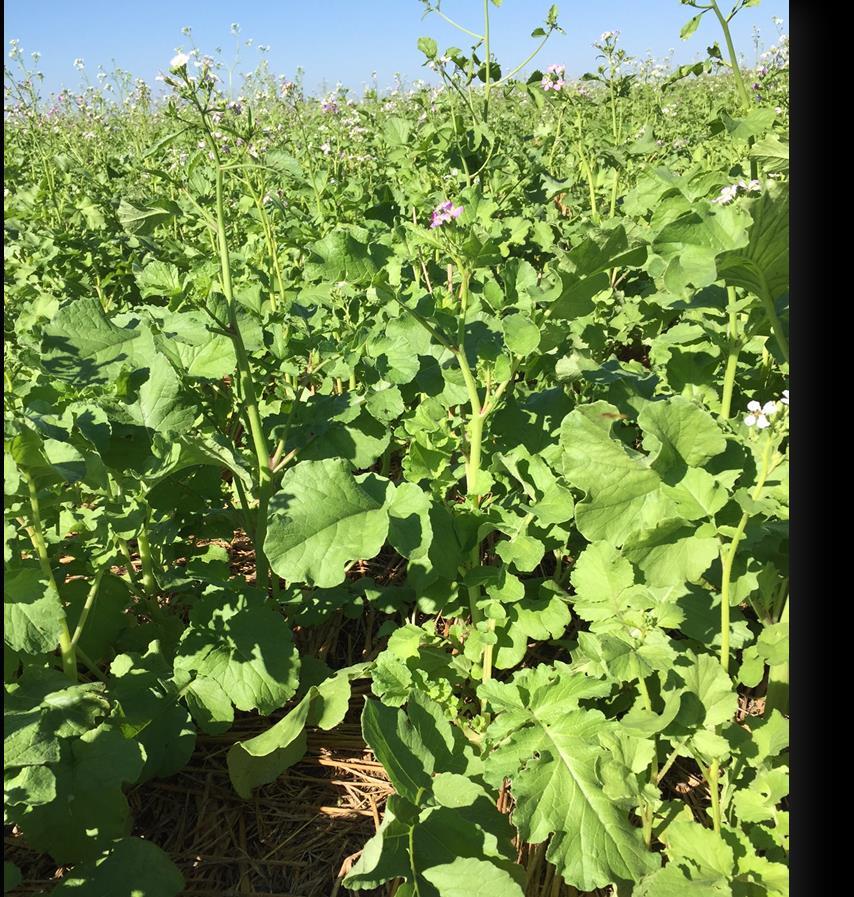
<svg viewBox="0 0 854 897">
<path fill-rule="evenodd" d="M 12 42 L 4 891 L 788 894 L 788 40 L 682 2 L 359 98 Z"/>
</svg>

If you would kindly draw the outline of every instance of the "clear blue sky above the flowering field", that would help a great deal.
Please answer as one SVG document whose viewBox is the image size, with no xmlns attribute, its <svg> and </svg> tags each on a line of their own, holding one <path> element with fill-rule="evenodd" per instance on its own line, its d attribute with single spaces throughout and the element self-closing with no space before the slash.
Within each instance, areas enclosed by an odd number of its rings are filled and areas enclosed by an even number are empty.
<svg viewBox="0 0 854 897">
<path fill-rule="evenodd" d="M 529 35 L 544 19 L 548 6 L 548 0 L 504 0 L 500 9 L 491 8 L 492 46 L 505 71 L 533 49 L 535 42 Z M 563 63 L 571 76 L 595 67 L 596 51 L 591 44 L 603 31 L 619 30 L 621 45 L 634 56 L 650 52 L 663 58 L 673 48 L 677 64 L 700 58 L 708 44 L 721 40 L 719 26 L 708 13 L 695 34 L 680 41 L 679 29 L 693 11 L 678 0 L 564 0 L 558 6 L 566 34 L 554 35 L 535 62 L 541 66 Z M 726 0 L 722 6 L 727 8 Z M 473 31 L 481 30 L 481 0 L 444 0 L 442 11 Z M 374 71 L 381 88 L 391 86 L 395 72 L 407 81 L 432 80 L 421 67 L 423 57 L 416 49 L 422 35 L 435 38 L 440 49 L 469 46 L 470 38 L 435 15 L 422 19 L 422 13 L 418 0 L 148 0 L 143 4 L 6 0 L 4 24 L 7 42 L 18 38 L 28 63 L 30 52 L 41 53 L 38 68 L 45 76 L 44 94 L 80 83 L 73 67 L 77 57 L 85 60 L 92 79 L 98 64 L 109 71 L 115 61 L 134 76 L 152 81 L 168 66 L 177 47 L 187 48 L 181 34 L 185 25 L 191 26 L 195 44 L 203 52 L 221 47 L 227 64 L 235 58 L 238 40 L 244 70 L 258 62 L 257 45 L 267 44 L 272 71 L 293 76 L 302 66 L 310 92 L 336 81 L 360 92 Z M 788 31 L 786 0 L 762 0 L 733 22 L 736 48 L 751 63 L 752 30 L 759 28 L 767 48 L 777 37 L 773 16 L 782 18 Z M 229 33 L 232 22 L 240 24 L 239 38 Z M 247 38 L 253 39 L 253 47 L 243 45 Z"/>
</svg>

